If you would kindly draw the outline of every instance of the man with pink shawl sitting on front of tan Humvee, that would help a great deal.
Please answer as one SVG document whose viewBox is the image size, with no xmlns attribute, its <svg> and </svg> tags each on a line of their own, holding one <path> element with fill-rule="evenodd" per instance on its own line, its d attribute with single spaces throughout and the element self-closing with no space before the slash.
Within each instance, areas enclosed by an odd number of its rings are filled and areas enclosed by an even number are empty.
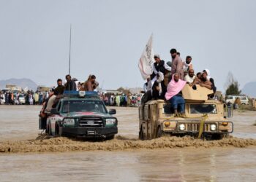
<svg viewBox="0 0 256 182">
<path fill-rule="evenodd" d="M 179 79 L 179 74 L 173 74 L 172 80 L 167 85 L 167 92 L 165 93 L 165 98 L 171 104 L 171 107 L 174 110 L 174 114 L 184 114 L 185 111 L 185 100 L 181 95 L 181 90 L 187 84 L 184 80 Z"/>
</svg>

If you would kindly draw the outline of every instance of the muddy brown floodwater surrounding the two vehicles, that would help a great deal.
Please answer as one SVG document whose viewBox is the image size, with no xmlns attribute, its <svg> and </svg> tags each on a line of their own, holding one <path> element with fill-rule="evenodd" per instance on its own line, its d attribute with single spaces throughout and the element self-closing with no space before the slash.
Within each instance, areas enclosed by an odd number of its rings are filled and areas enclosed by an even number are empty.
<svg viewBox="0 0 256 182">
<path fill-rule="evenodd" d="M 138 108 L 116 108 L 118 136 L 38 135 L 40 106 L 0 106 L 0 181 L 255 181 L 256 112 L 234 112 L 230 138 L 138 141 Z"/>
</svg>

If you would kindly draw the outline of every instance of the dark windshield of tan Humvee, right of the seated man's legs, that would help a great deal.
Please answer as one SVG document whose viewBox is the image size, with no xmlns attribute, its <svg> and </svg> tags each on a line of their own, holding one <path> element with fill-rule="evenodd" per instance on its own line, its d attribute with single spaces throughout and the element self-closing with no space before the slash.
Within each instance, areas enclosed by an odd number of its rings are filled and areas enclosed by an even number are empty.
<svg viewBox="0 0 256 182">
<path fill-rule="evenodd" d="M 190 104 L 191 114 L 217 114 L 215 104 Z"/>
</svg>

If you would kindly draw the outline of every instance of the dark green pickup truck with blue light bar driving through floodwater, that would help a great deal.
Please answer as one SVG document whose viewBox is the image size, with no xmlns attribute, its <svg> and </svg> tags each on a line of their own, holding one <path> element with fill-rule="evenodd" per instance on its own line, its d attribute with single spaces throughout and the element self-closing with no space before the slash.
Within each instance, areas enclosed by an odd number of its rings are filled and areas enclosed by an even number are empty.
<svg viewBox="0 0 256 182">
<path fill-rule="evenodd" d="M 83 138 L 114 138 L 118 120 L 107 110 L 97 92 L 65 91 L 46 122 L 48 135 L 67 135 Z M 39 129 L 40 119 L 39 119 Z"/>
</svg>

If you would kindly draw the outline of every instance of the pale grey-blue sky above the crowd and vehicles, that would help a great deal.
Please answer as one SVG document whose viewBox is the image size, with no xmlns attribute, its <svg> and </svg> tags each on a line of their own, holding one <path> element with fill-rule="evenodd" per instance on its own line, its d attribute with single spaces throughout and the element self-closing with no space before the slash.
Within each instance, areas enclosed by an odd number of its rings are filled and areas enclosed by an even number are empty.
<svg viewBox="0 0 256 182">
<path fill-rule="evenodd" d="M 0 79 L 30 78 L 53 86 L 68 73 L 95 74 L 104 89 L 142 87 L 138 60 L 154 34 L 165 61 L 175 47 L 195 71 L 208 68 L 218 90 L 228 71 L 241 88 L 255 78 L 256 1 L 3 1 Z"/>
</svg>

